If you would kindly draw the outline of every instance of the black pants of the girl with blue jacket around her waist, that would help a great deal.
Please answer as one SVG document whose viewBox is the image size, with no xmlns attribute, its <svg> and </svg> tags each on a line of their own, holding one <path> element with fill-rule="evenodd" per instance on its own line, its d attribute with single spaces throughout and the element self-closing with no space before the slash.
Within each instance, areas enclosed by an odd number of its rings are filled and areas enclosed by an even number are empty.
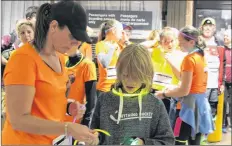
<svg viewBox="0 0 232 146">
<path fill-rule="evenodd" d="M 179 117 L 180 110 L 177 110 L 176 114 Z M 186 145 L 185 141 L 188 141 L 188 145 L 200 145 L 201 142 L 201 133 L 197 133 L 195 139 L 191 137 L 191 126 L 187 123 L 181 123 L 179 137 L 176 137 L 175 145 Z"/>
</svg>

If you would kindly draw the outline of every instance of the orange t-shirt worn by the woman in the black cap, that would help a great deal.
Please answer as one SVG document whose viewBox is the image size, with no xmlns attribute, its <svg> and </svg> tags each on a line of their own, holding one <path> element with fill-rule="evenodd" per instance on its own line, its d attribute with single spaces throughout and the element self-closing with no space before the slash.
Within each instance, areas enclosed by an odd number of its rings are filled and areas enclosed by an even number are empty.
<svg viewBox="0 0 232 146">
<path fill-rule="evenodd" d="M 36 90 L 31 106 L 31 115 L 51 120 L 63 121 L 66 114 L 67 99 L 65 97 L 68 75 L 64 59 L 60 56 L 62 73 L 54 72 L 40 58 L 31 44 L 25 44 L 12 54 L 4 72 L 4 83 L 8 85 L 28 85 Z M 20 98 L 20 95 L 19 95 Z M 6 95 L 7 101 L 7 95 Z M 7 107 L 11 105 L 6 105 Z M 57 135 L 37 135 L 16 131 L 8 119 L 2 131 L 3 145 L 52 144 Z"/>
</svg>

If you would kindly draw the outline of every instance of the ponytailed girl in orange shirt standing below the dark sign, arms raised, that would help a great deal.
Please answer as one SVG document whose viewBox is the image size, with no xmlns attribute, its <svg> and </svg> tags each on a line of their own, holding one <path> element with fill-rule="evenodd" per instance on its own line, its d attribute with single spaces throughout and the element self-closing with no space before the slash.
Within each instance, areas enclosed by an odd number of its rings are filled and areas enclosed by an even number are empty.
<svg viewBox="0 0 232 146">
<path fill-rule="evenodd" d="M 108 20 L 102 24 L 99 42 L 96 44 L 99 79 L 97 82 L 98 96 L 108 92 L 116 80 L 116 63 L 121 52 L 118 41 L 122 37 L 123 26 L 117 20 Z"/>
</svg>

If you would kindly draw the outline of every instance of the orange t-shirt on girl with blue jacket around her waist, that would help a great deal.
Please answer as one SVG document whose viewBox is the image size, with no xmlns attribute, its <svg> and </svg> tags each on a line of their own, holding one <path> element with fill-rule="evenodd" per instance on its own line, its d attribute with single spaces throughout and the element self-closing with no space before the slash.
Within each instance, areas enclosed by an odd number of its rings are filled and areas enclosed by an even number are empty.
<svg viewBox="0 0 232 146">
<path fill-rule="evenodd" d="M 181 72 L 193 72 L 190 93 L 205 93 L 207 85 L 207 72 L 205 70 L 205 59 L 195 52 L 187 55 L 181 66 Z"/>
</svg>

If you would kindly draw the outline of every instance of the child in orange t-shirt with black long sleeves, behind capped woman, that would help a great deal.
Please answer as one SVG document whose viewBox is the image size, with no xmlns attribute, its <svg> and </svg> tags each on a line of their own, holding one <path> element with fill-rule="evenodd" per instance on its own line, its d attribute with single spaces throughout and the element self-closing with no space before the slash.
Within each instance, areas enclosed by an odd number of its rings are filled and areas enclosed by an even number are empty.
<svg viewBox="0 0 232 146">
<path fill-rule="evenodd" d="M 67 54 L 69 57 L 66 68 L 69 76 L 73 77 L 67 97 L 81 104 L 86 103 L 86 112 L 81 123 L 88 126 L 96 100 L 96 67 L 91 60 L 84 57 L 78 47 L 73 47 Z M 72 122 L 73 117 L 66 116 L 65 121 Z"/>
</svg>

